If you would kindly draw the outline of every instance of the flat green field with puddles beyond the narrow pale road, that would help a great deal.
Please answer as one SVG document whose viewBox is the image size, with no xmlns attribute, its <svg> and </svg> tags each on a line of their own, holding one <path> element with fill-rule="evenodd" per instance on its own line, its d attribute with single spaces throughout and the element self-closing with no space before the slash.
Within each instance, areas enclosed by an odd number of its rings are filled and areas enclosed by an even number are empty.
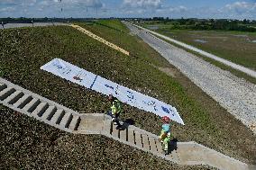
<svg viewBox="0 0 256 170">
<path fill-rule="evenodd" d="M 256 32 L 178 30 L 172 29 L 171 24 L 152 22 L 145 22 L 144 26 L 217 57 L 256 70 Z"/>
</svg>

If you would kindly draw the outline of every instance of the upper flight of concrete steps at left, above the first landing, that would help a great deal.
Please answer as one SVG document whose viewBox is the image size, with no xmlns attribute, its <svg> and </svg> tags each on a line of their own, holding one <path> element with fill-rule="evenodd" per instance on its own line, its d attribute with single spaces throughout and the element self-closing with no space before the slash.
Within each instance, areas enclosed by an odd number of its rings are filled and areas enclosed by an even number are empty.
<svg viewBox="0 0 256 170">
<path fill-rule="evenodd" d="M 78 130 L 81 121 L 78 112 L 33 94 L 3 78 L 0 78 L 0 103 L 67 132 Z"/>
</svg>

